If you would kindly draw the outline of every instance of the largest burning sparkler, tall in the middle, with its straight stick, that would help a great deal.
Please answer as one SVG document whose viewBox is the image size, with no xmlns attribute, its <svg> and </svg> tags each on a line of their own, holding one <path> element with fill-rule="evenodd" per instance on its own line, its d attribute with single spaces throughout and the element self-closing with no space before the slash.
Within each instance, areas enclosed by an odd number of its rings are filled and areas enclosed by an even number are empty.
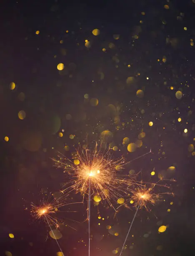
<svg viewBox="0 0 195 256">
<path fill-rule="evenodd" d="M 90 201 L 92 195 L 99 196 L 99 200 L 107 200 L 108 204 L 114 208 L 111 199 L 117 201 L 122 194 L 127 193 L 124 184 L 128 186 L 125 178 L 117 177 L 117 168 L 122 168 L 124 159 L 114 161 L 109 151 L 101 153 L 97 150 L 97 144 L 94 151 L 85 149 L 77 151 L 76 161 L 73 163 L 70 159 L 60 155 L 60 161 L 55 160 L 57 167 L 63 167 L 70 174 L 71 180 L 69 187 L 62 190 L 64 195 L 74 191 L 80 192 L 83 197 L 87 196 L 87 220 L 89 235 L 90 256 Z M 114 208 L 115 209 L 115 208 Z"/>
</svg>

